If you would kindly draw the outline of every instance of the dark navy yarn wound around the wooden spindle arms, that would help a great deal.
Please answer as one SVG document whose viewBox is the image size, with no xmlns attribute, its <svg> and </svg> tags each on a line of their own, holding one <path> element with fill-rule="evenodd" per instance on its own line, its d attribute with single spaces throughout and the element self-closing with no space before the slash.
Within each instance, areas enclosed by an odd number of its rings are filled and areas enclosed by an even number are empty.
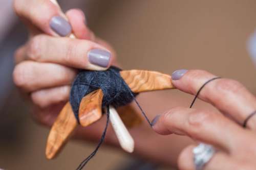
<svg viewBox="0 0 256 170">
<path fill-rule="evenodd" d="M 80 70 L 73 82 L 70 93 L 70 104 L 76 118 L 78 118 L 82 98 L 99 88 L 104 94 L 102 108 L 108 105 L 124 106 L 134 100 L 137 94 L 133 93 L 124 82 L 119 74 L 120 70 L 120 68 L 114 66 L 105 71 Z"/>
</svg>

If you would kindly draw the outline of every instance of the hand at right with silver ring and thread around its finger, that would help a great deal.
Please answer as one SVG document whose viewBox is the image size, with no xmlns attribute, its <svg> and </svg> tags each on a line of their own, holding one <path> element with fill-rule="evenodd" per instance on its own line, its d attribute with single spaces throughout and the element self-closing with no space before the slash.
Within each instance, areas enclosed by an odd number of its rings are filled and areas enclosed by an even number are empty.
<svg viewBox="0 0 256 170">
<path fill-rule="evenodd" d="M 202 70 L 178 70 L 173 74 L 173 83 L 178 89 L 195 95 L 214 77 Z M 246 129 L 242 127 L 245 119 L 256 110 L 255 96 L 237 81 L 217 79 L 208 83 L 198 97 L 223 114 L 212 110 L 173 108 L 153 120 L 153 129 L 162 135 L 187 135 L 214 145 L 218 151 L 206 164 L 206 170 L 255 169 L 256 115 L 248 120 Z M 193 148 L 190 145 L 180 154 L 180 169 L 195 169 Z"/>
</svg>

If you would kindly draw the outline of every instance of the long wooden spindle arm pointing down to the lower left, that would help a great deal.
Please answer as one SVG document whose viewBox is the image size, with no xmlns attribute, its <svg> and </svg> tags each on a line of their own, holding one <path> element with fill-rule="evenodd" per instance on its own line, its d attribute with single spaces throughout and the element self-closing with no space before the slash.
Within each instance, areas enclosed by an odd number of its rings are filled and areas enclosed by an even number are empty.
<svg viewBox="0 0 256 170">
<path fill-rule="evenodd" d="M 77 127 L 77 120 L 68 102 L 60 111 L 49 133 L 46 145 L 46 157 L 54 158 Z"/>
</svg>

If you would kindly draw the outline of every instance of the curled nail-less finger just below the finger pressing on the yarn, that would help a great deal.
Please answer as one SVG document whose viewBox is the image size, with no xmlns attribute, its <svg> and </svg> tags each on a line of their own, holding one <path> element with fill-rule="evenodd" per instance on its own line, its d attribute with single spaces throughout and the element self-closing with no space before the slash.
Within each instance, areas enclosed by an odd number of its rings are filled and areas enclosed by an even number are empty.
<svg viewBox="0 0 256 170">
<path fill-rule="evenodd" d="M 15 66 L 14 83 L 26 92 L 70 85 L 76 76 L 73 68 L 53 63 L 24 61 Z"/>
</svg>

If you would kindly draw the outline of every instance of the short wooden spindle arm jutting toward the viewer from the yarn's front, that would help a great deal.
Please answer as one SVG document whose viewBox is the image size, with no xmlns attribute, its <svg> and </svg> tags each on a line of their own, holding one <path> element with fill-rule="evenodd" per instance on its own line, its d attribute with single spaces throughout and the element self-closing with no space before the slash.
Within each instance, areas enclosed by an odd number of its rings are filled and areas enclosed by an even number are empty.
<svg viewBox="0 0 256 170">
<path fill-rule="evenodd" d="M 102 98 L 101 89 L 95 90 L 82 98 L 79 106 L 79 121 L 84 127 L 96 122 L 102 116 Z"/>
</svg>

